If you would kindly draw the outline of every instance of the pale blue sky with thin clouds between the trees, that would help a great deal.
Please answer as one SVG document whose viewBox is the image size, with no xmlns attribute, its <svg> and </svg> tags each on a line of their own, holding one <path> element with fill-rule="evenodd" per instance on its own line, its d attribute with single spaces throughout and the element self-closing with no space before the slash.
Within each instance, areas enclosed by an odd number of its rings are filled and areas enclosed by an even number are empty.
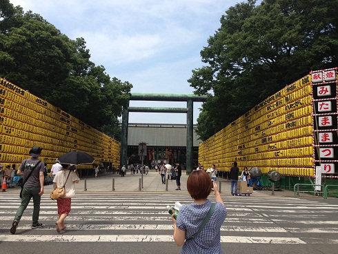
<svg viewBox="0 0 338 254">
<path fill-rule="evenodd" d="M 188 79 L 200 52 L 237 0 L 10 0 L 40 14 L 70 39 L 83 37 L 90 61 L 133 92 L 192 94 Z M 130 101 L 130 106 L 186 108 L 186 102 Z M 200 102 L 194 103 L 197 124 Z M 129 113 L 130 123 L 186 124 L 182 113 Z"/>
</svg>

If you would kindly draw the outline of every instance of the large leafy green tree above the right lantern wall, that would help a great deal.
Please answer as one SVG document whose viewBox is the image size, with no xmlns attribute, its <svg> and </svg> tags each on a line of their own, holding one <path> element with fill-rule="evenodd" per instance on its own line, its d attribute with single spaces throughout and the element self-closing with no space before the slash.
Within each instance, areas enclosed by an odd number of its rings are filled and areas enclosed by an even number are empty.
<svg viewBox="0 0 338 254">
<path fill-rule="evenodd" d="M 197 119 L 202 140 L 310 70 L 338 65 L 337 0 L 237 3 L 201 50 L 188 79 L 209 95 Z M 222 108 L 223 110 L 219 110 Z"/>
</svg>

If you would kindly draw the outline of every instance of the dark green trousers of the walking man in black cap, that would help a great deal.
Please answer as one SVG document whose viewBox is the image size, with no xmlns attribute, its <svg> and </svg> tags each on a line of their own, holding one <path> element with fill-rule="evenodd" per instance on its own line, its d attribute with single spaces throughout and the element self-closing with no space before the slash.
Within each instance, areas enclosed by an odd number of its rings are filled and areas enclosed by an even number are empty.
<svg viewBox="0 0 338 254">
<path fill-rule="evenodd" d="M 21 198 L 21 205 L 17 210 L 17 214 L 14 217 L 14 220 L 17 222 L 20 221 L 23 212 L 26 210 L 28 204 L 30 203 L 30 199 L 33 197 L 33 215 L 32 215 L 32 225 L 36 226 L 39 223 L 39 214 L 40 214 L 40 202 L 41 196 L 39 195 L 40 186 L 39 187 L 30 187 L 30 188 L 23 188 L 22 190 L 22 198 Z"/>
</svg>

